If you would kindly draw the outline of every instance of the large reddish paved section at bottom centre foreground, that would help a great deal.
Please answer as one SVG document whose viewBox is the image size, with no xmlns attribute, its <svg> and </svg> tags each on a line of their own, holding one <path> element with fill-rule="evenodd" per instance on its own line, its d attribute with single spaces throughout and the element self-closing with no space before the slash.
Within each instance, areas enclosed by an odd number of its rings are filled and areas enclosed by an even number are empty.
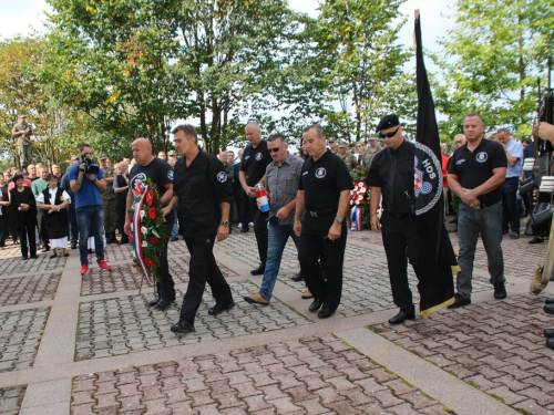
<svg viewBox="0 0 554 415">
<path fill-rule="evenodd" d="M 434 407 L 435 402 L 423 397 L 419 390 L 387 373 L 367 356 L 349 346 L 331 346 L 332 343 L 336 341 L 328 338 L 299 339 L 286 343 L 286 349 L 291 354 L 283 353 L 285 343 L 278 343 L 234 351 L 226 356 L 220 353 L 217 356 L 211 354 L 79 376 L 73 380 L 76 387 L 72 391 L 72 411 L 84 412 L 88 408 L 93 413 L 355 414 L 376 407 L 381 412 L 396 413 L 389 408 L 400 407 L 407 413 L 424 414 L 428 412 L 423 409 Z M 317 357 L 318 364 L 310 367 L 300 361 L 300 356 Z M 237 371 L 224 372 L 223 362 L 232 362 Z M 271 364 L 263 366 L 259 365 L 260 362 Z M 298 365 L 298 362 L 301 364 Z M 287 363 L 293 364 L 293 369 L 304 367 L 301 376 L 291 370 L 286 374 L 275 371 L 277 366 L 286 367 Z M 363 378 L 349 380 L 346 374 L 337 372 L 337 363 L 356 367 L 358 377 Z M 257 364 L 260 371 L 249 373 L 245 367 L 254 364 Z M 368 370 L 363 373 L 359 367 Z M 188 372 L 193 372 L 192 377 L 185 376 Z M 220 380 L 208 380 L 209 376 L 218 378 L 217 374 L 222 376 Z M 326 377 L 326 374 L 337 376 Z M 240 378 L 242 382 L 233 383 L 232 378 Z M 111 391 L 110 387 L 102 384 L 110 384 L 115 391 L 107 392 Z"/>
</svg>

